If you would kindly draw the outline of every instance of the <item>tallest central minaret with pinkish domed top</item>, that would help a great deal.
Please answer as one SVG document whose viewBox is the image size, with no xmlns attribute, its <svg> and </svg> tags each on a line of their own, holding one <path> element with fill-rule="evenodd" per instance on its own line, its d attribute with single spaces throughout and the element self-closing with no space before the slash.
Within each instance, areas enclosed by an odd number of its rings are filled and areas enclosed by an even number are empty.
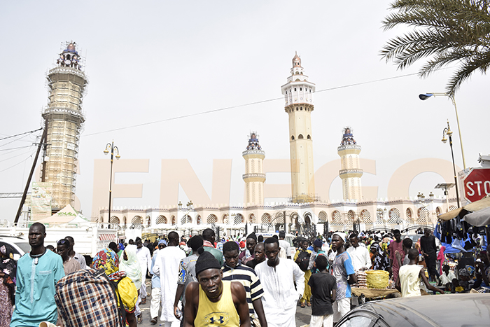
<svg viewBox="0 0 490 327">
<path fill-rule="evenodd" d="M 289 148 L 291 160 L 291 193 L 293 202 L 314 200 L 313 137 L 311 111 L 314 109 L 315 85 L 303 74 L 301 58 L 293 57 L 293 68 L 288 83 L 281 86 L 289 115 Z"/>
</svg>

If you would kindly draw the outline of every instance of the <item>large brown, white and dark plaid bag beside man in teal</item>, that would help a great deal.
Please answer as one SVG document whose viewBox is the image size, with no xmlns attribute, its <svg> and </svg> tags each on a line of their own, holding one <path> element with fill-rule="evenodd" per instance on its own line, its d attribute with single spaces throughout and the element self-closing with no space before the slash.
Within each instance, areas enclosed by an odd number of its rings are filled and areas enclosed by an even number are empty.
<svg viewBox="0 0 490 327">
<path fill-rule="evenodd" d="M 87 268 L 56 284 L 55 300 L 65 327 L 123 327 L 125 309 L 118 308 L 116 288 L 104 270 Z M 119 302 L 121 302 L 120 296 Z"/>
</svg>

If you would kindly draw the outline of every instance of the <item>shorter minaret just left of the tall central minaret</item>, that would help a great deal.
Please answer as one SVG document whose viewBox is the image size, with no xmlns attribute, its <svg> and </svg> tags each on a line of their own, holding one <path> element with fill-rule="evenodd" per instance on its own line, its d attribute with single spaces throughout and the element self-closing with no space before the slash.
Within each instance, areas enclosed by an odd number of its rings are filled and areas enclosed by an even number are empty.
<svg viewBox="0 0 490 327">
<path fill-rule="evenodd" d="M 245 159 L 245 203 L 264 204 L 264 158 L 265 152 L 260 148 L 258 135 L 251 132 L 246 151 L 241 153 Z"/>
</svg>

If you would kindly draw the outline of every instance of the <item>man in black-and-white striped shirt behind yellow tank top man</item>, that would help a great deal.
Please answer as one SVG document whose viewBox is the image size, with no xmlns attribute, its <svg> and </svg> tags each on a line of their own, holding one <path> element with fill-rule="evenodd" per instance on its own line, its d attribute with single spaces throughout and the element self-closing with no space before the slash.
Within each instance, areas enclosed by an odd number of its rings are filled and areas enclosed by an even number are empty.
<svg viewBox="0 0 490 327">
<path fill-rule="evenodd" d="M 248 311 L 251 318 L 254 317 L 254 310 L 258 316 L 261 327 L 267 327 L 265 320 L 264 308 L 262 307 L 262 285 L 255 274 L 255 270 L 246 265 L 241 265 L 238 261 L 239 246 L 236 242 L 226 242 L 223 244 L 223 256 L 225 265 L 223 266 L 224 281 L 240 281 L 246 292 L 246 301 L 248 302 Z"/>
</svg>

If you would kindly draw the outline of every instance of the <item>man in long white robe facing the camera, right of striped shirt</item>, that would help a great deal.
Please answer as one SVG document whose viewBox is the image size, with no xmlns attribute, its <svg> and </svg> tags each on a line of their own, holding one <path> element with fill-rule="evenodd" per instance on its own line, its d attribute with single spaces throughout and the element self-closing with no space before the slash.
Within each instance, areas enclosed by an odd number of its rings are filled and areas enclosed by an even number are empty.
<svg viewBox="0 0 490 327">
<path fill-rule="evenodd" d="M 265 240 L 264 249 L 267 260 L 256 265 L 255 272 L 264 290 L 262 305 L 267 325 L 296 327 L 296 306 L 304 291 L 304 272 L 293 260 L 279 258 L 281 249 L 274 237 Z"/>
</svg>

